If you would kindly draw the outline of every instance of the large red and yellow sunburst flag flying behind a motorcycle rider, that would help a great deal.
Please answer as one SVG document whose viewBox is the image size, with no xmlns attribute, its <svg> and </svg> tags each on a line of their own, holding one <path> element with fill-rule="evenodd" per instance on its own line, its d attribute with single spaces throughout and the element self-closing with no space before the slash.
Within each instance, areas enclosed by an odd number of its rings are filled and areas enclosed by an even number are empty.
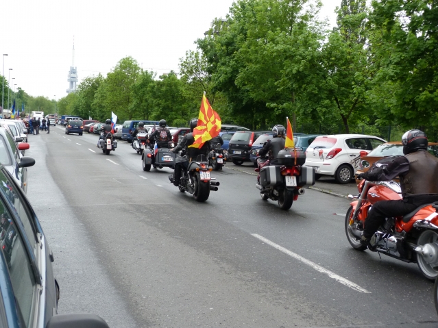
<svg viewBox="0 0 438 328">
<path fill-rule="evenodd" d="M 197 126 L 193 129 L 195 142 L 188 147 L 201 148 L 206 141 L 219 136 L 220 131 L 221 118 L 219 114 L 211 108 L 204 92 L 202 95 L 201 108 L 199 109 Z"/>
</svg>

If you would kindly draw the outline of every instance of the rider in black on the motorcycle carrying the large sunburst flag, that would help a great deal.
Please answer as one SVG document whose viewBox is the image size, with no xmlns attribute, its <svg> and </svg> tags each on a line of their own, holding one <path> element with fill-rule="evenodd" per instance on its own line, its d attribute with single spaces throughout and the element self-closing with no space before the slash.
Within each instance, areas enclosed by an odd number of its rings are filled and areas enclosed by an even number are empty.
<svg viewBox="0 0 438 328">
<path fill-rule="evenodd" d="M 191 133 L 186 134 L 184 138 L 182 138 L 181 142 L 177 147 L 171 149 L 173 153 L 178 153 L 178 151 L 184 150 L 185 156 L 178 156 L 175 160 L 175 170 L 173 171 L 173 175 L 169 175 L 169 180 L 173 182 L 173 186 L 179 186 L 182 169 L 187 170 L 188 163 L 192 160 L 196 160 L 197 155 L 206 155 L 208 154 L 208 150 L 210 149 L 210 142 L 206 141 L 202 145 L 201 148 L 188 147 L 193 142 L 195 142 L 195 138 L 193 137 L 193 129 L 195 129 L 197 125 L 197 118 L 192 118 L 190 120 L 190 131 Z"/>
</svg>

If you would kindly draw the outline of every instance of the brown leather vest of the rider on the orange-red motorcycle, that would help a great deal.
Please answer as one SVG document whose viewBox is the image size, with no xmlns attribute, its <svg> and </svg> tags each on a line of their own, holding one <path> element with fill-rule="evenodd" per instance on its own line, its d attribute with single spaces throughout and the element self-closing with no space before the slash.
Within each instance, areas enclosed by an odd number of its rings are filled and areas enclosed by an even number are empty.
<svg viewBox="0 0 438 328">
<path fill-rule="evenodd" d="M 438 158 L 427 151 L 405 155 L 409 171 L 400 176 L 403 197 L 406 194 L 438 194 Z"/>
</svg>

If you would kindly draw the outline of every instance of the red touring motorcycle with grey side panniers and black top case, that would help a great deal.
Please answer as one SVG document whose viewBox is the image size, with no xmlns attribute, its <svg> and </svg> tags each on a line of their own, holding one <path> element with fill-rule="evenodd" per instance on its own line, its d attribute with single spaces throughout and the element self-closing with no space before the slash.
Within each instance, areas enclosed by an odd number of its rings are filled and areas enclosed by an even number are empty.
<svg viewBox="0 0 438 328">
<path fill-rule="evenodd" d="M 293 201 L 304 194 L 305 186 L 315 184 L 315 170 L 302 166 L 306 162 L 306 155 L 302 151 L 284 149 L 278 153 L 278 164 L 269 165 L 268 157 L 257 155 L 258 172 L 256 187 L 260 190 L 263 201 L 271 199 L 278 201 L 282 210 L 289 210 Z M 295 160 L 296 159 L 296 160 Z"/>
</svg>

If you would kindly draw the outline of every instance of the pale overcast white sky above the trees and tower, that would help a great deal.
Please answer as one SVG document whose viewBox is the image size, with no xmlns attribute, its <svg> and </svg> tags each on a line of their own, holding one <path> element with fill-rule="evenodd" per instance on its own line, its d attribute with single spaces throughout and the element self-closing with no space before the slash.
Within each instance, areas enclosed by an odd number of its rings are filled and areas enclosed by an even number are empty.
<svg viewBox="0 0 438 328">
<path fill-rule="evenodd" d="M 5 79 L 32 96 L 60 99 L 72 64 L 80 81 L 106 73 L 126 56 L 158 75 L 178 71 L 179 58 L 225 18 L 233 0 L 1 1 L 0 54 Z M 322 0 L 321 16 L 334 24 L 341 0 Z M 3 71 L 3 61 L 0 63 Z M 12 68 L 12 71 L 8 71 Z M 12 83 L 12 77 L 15 77 Z M 1 103 L 0 103 L 1 105 Z M 6 107 L 6 105 L 5 105 Z"/>
</svg>

